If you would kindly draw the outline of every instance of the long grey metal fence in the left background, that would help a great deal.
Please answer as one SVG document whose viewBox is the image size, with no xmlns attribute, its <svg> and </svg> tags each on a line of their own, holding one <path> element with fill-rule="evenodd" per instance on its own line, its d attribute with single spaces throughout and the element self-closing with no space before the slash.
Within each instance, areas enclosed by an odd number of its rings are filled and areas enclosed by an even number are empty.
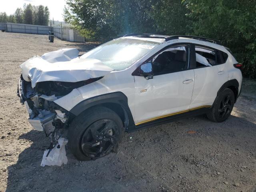
<svg viewBox="0 0 256 192">
<path fill-rule="evenodd" d="M 80 36 L 77 30 L 66 27 L 62 28 L 19 23 L 0 23 L 0 30 L 26 34 L 49 34 L 49 31 L 52 31 L 54 32 L 54 36 L 58 39 L 70 42 L 85 42 L 85 38 Z"/>
</svg>

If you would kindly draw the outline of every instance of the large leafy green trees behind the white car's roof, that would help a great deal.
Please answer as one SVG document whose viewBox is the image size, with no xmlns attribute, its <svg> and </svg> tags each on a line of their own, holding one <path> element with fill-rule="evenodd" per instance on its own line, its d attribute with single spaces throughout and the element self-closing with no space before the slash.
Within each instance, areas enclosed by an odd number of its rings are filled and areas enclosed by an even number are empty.
<svg viewBox="0 0 256 192">
<path fill-rule="evenodd" d="M 222 41 L 256 78 L 255 0 L 66 0 L 64 20 L 106 41 L 132 32 L 187 34 Z"/>
</svg>

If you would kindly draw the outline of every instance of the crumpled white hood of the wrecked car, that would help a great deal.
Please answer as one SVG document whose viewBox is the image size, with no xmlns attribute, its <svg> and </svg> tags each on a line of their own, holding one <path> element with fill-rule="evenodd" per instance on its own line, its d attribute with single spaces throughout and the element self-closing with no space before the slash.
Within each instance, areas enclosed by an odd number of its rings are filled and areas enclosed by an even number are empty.
<svg viewBox="0 0 256 192">
<path fill-rule="evenodd" d="M 105 76 L 113 69 L 97 59 L 78 58 L 76 48 L 34 56 L 20 65 L 22 77 L 32 88 L 43 81 L 78 82 Z"/>
</svg>

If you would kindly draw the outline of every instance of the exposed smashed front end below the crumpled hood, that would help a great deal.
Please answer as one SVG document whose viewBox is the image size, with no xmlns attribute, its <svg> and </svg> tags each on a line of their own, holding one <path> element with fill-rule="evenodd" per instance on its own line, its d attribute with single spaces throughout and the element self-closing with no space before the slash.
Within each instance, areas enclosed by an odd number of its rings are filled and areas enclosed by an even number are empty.
<svg viewBox="0 0 256 192">
<path fill-rule="evenodd" d="M 25 81 L 22 76 L 18 84 L 17 95 L 20 102 L 26 105 L 28 121 L 36 130 L 44 131 L 50 138 L 54 138 L 58 130 L 68 127 L 69 120 L 74 118 L 74 115 L 53 102 L 71 92 L 72 85 L 58 86 L 56 89 L 54 86 L 57 85 L 58 82 L 41 82 L 32 88 L 31 82 Z"/>
</svg>

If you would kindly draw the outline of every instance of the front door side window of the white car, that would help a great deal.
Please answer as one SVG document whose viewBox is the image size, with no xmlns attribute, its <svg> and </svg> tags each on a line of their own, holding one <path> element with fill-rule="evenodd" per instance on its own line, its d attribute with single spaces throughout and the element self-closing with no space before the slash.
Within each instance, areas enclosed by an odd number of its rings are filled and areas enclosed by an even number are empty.
<svg viewBox="0 0 256 192">
<path fill-rule="evenodd" d="M 178 72 L 188 69 L 187 53 L 187 46 L 174 46 L 160 52 L 152 59 L 154 75 Z"/>
</svg>

